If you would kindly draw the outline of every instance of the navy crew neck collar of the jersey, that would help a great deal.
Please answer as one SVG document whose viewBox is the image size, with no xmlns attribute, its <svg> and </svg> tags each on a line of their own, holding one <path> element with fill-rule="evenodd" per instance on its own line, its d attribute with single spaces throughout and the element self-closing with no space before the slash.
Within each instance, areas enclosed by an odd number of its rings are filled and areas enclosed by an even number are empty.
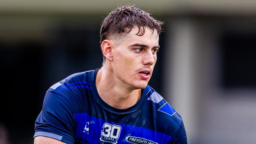
<svg viewBox="0 0 256 144">
<path fill-rule="evenodd" d="M 150 89 L 148 87 L 148 85 L 144 90 L 142 89 L 143 93 L 142 93 L 139 101 L 135 105 L 133 105 L 132 107 L 128 107 L 127 109 L 117 109 L 115 107 L 110 106 L 108 103 L 104 102 L 104 100 L 102 100 L 102 98 L 98 94 L 98 91 L 96 89 L 96 84 L 95 84 L 95 79 L 96 79 L 95 74 L 96 74 L 96 72 L 98 72 L 98 70 L 99 70 L 99 68 L 91 71 L 91 73 L 89 75 L 89 82 L 91 83 L 91 87 L 92 87 L 91 90 L 93 92 L 93 97 L 104 109 L 106 109 L 107 111 L 109 111 L 111 113 L 126 114 L 126 113 L 132 113 L 132 112 L 136 111 L 143 105 L 143 103 L 145 102 L 145 99 L 147 97 L 148 90 Z"/>
</svg>

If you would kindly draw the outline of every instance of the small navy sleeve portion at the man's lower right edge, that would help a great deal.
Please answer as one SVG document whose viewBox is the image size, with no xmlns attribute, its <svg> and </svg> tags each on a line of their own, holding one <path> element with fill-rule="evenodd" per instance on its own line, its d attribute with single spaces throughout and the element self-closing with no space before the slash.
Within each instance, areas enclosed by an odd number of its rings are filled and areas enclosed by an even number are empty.
<svg viewBox="0 0 256 144">
<path fill-rule="evenodd" d="M 183 122 L 169 144 L 187 144 L 187 135 Z"/>
</svg>

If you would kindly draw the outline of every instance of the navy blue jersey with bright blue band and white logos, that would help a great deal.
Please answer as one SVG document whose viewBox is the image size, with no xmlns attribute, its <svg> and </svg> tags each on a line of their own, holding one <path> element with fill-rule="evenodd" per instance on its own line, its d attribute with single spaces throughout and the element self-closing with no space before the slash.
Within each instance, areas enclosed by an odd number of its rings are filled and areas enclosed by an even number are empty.
<svg viewBox="0 0 256 144">
<path fill-rule="evenodd" d="M 181 116 L 150 86 L 127 109 L 104 102 L 97 70 L 73 74 L 47 90 L 35 135 L 67 144 L 186 144 Z"/>
</svg>

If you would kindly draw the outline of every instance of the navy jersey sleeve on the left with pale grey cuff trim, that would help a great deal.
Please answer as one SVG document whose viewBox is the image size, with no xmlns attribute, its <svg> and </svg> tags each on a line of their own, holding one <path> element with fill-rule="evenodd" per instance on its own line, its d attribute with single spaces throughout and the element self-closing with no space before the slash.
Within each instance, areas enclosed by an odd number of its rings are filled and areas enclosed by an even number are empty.
<svg viewBox="0 0 256 144">
<path fill-rule="evenodd" d="M 43 109 L 35 121 L 35 135 L 74 144 L 74 102 L 69 97 L 54 91 L 46 92 Z"/>
</svg>

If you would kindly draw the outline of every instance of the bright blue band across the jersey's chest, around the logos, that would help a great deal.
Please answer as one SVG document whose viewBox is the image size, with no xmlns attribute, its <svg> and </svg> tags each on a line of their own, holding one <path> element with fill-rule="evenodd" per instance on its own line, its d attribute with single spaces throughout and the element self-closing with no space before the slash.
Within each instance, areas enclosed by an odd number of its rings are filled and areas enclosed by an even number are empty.
<svg viewBox="0 0 256 144">
<path fill-rule="evenodd" d="M 102 120 L 100 118 L 96 118 L 93 116 L 89 116 L 87 113 L 76 113 L 76 142 L 80 142 L 80 140 L 84 140 L 80 143 L 88 143 L 88 144 L 97 144 L 100 142 L 100 137 L 102 133 L 102 126 L 104 123 L 108 123 L 111 125 L 121 126 L 120 136 L 117 139 L 118 144 L 127 144 L 125 138 L 130 137 L 139 137 L 147 140 L 151 140 L 158 144 L 164 144 L 171 140 L 171 136 L 160 133 L 157 131 L 153 131 L 147 128 L 132 126 L 128 124 L 118 124 L 113 122 L 108 122 L 106 120 Z"/>
</svg>

